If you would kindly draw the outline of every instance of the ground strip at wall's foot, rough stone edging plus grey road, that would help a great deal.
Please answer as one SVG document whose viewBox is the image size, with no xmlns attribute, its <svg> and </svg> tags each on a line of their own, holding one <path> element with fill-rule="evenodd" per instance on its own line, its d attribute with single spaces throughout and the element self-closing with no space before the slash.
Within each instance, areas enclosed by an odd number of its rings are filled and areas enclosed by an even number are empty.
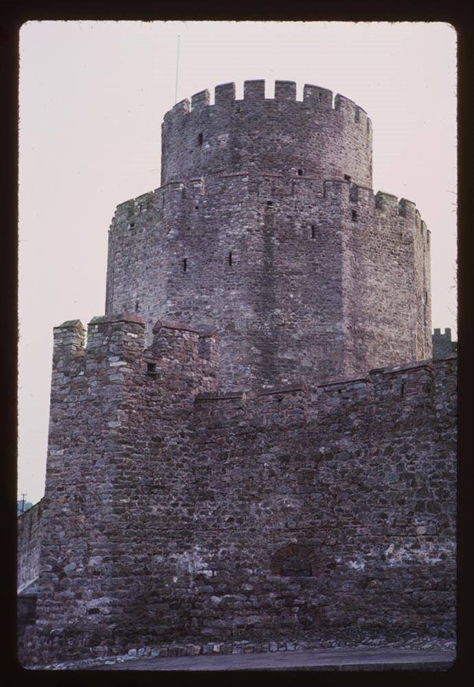
<svg viewBox="0 0 474 687">
<path fill-rule="evenodd" d="M 365 666 L 361 668 L 364 670 L 390 670 L 390 666 L 395 666 L 394 669 L 446 670 L 455 657 L 454 640 L 425 638 L 405 643 L 373 640 L 372 646 L 355 647 L 337 645 L 336 642 L 332 646 L 327 644 L 324 647 L 290 641 L 262 645 L 235 642 L 232 646 L 219 642 L 168 644 L 130 649 L 124 655 L 24 664 L 24 667 L 30 670 L 291 670 L 301 663 L 305 670 L 357 670 L 358 666 Z"/>
</svg>

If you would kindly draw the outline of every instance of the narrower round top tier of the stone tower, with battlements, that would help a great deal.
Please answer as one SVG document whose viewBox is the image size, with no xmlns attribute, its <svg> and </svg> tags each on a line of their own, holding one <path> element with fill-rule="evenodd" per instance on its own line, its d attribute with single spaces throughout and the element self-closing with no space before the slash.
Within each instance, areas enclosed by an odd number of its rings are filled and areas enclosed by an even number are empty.
<svg viewBox="0 0 474 687">
<path fill-rule="evenodd" d="M 242 170 L 285 176 L 343 179 L 372 188 L 372 124 L 361 107 L 332 91 L 275 81 L 265 98 L 263 80 L 234 83 L 177 103 L 164 117 L 161 184 Z"/>
</svg>

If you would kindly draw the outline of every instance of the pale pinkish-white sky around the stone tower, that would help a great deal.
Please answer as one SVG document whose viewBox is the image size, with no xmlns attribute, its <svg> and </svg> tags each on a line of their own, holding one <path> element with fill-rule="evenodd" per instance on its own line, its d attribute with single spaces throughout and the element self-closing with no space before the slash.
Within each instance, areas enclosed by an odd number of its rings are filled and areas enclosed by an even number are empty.
<svg viewBox="0 0 474 687">
<path fill-rule="evenodd" d="M 367 111 L 374 191 L 414 201 L 431 231 L 433 327 L 456 330 L 456 34 L 446 23 L 28 22 L 20 33 L 19 495 L 44 493 L 53 327 L 104 313 L 118 203 L 160 184 L 177 100 L 265 79 Z"/>
</svg>

